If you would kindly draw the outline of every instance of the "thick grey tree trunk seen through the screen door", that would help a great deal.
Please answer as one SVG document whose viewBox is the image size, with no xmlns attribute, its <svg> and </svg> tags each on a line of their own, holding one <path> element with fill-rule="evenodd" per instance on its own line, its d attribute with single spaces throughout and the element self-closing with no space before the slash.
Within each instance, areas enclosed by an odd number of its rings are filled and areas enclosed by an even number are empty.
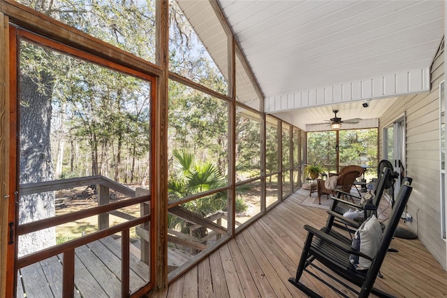
<svg viewBox="0 0 447 298">
<path fill-rule="evenodd" d="M 43 91 L 27 75 L 20 77 L 20 184 L 54 180 L 50 122 L 52 77 L 43 74 Z M 20 197 L 19 224 L 55 215 L 54 192 Z M 19 237 L 18 255 L 27 255 L 56 244 L 54 227 Z"/>
</svg>

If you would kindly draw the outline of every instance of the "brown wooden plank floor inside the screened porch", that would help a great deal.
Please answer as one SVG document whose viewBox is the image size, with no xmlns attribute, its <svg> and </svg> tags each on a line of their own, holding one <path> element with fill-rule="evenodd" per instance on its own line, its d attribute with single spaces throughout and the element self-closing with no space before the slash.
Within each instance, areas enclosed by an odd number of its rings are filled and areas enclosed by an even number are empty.
<svg viewBox="0 0 447 298">
<path fill-rule="evenodd" d="M 305 297 L 288 278 L 295 275 L 302 251 L 303 225 L 323 227 L 327 218 L 325 210 L 300 204 L 308 195 L 305 190 L 292 194 L 151 297 Z M 447 273 L 418 239 L 396 238 L 391 245 L 399 252 L 387 254 L 376 288 L 397 297 L 447 297 Z M 305 276 L 323 297 L 338 297 Z"/>
</svg>

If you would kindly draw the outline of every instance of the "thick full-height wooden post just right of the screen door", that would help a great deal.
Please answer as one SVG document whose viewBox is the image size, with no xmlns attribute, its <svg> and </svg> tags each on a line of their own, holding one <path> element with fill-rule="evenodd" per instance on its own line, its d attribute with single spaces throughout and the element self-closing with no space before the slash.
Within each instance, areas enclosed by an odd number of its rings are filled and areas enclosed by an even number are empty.
<svg viewBox="0 0 447 298">
<path fill-rule="evenodd" d="M 162 74 L 152 101 L 152 276 L 156 288 L 168 285 L 168 0 L 156 1 L 156 64 Z"/>
</svg>

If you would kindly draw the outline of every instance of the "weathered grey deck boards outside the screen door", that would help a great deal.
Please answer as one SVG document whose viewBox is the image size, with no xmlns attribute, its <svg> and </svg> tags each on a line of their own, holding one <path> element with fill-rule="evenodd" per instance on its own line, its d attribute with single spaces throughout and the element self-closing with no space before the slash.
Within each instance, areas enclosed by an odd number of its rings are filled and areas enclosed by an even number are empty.
<svg viewBox="0 0 447 298">
<path fill-rule="evenodd" d="M 76 248 L 75 297 L 121 297 L 121 242 L 108 236 Z M 129 283 L 137 290 L 149 281 L 149 267 L 140 261 L 140 250 L 130 246 Z M 20 269 L 17 297 L 66 297 L 62 262 L 62 255 L 57 255 Z"/>
</svg>

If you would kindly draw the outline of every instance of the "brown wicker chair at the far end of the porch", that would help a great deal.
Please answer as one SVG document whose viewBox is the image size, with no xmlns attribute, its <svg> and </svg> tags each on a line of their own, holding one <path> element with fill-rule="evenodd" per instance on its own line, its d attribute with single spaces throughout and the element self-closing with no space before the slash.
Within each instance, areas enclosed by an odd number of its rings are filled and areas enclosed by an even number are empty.
<svg viewBox="0 0 447 298">
<path fill-rule="evenodd" d="M 337 186 L 335 187 L 337 190 L 342 190 L 349 193 L 351 192 L 351 187 L 356 178 L 360 177 L 364 171 L 365 169 L 363 169 L 361 166 L 351 165 L 345 166 L 342 171 L 339 171 L 339 173 L 332 174 L 330 176 L 337 176 Z M 335 190 L 328 190 L 324 184 L 325 180 L 316 180 L 318 204 L 321 204 L 321 196 L 323 194 L 325 194 L 327 197 L 330 195 L 335 196 L 335 194 L 337 194 Z"/>
</svg>

